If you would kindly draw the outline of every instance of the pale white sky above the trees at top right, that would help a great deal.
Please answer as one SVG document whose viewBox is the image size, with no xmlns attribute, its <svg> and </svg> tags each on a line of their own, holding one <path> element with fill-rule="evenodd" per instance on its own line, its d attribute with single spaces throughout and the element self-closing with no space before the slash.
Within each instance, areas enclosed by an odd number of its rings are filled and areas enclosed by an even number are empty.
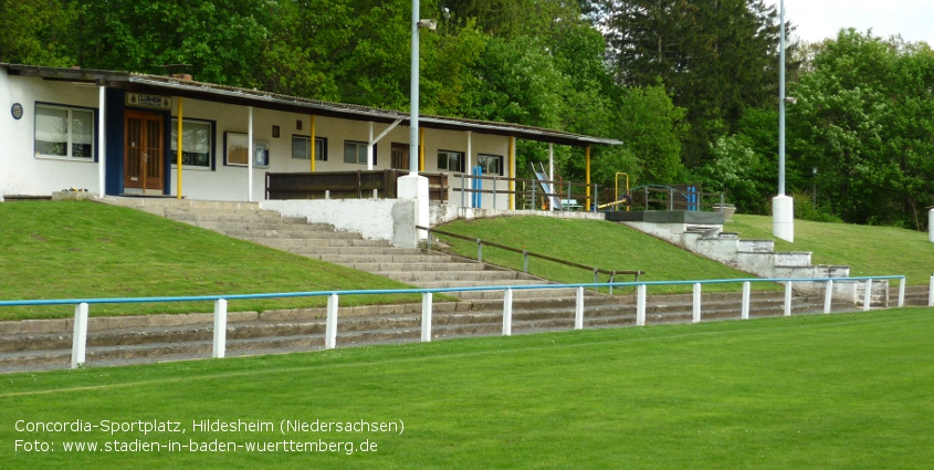
<svg viewBox="0 0 934 470">
<path fill-rule="evenodd" d="M 785 0 L 785 17 L 798 27 L 791 36 L 808 42 L 833 38 L 841 28 L 872 28 L 875 36 L 901 34 L 934 46 L 934 0 Z"/>
</svg>

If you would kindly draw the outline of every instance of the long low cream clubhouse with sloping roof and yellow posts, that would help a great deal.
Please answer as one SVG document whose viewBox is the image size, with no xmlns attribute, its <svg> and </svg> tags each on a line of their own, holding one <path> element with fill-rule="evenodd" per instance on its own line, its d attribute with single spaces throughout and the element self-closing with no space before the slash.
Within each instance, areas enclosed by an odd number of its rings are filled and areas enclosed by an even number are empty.
<svg viewBox="0 0 934 470">
<path fill-rule="evenodd" d="M 0 64 L 0 108 L 9 109 L 0 117 L 0 196 L 7 197 L 77 188 L 109 196 L 261 201 L 282 197 L 267 194 L 267 174 L 346 176 L 398 168 L 405 175 L 409 169 L 407 113 L 199 83 L 188 76 Z M 619 144 L 433 116 L 422 116 L 420 128 L 419 171 L 438 174 L 443 186 L 435 197 L 444 199 L 443 189 L 455 206 L 478 203 L 459 190 L 462 175 L 469 177 L 472 168 L 487 176 L 516 176 L 516 138 L 588 148 Z M 482 189 L 492 190 L 492 185 L 483 181 Z M 514 208 L 514 198 L 504 194 L 511 185 L 495 182 L 501 209 Z M 339 197 L 338 189 L 328 196 Z M 357 190 L 360 197 L 372 197 L 371 189 Z M 380 196 L 395 194 L 395 188 L 385 195 L 382 190 Z M 493 207 L 492 194 L 482 197 L 481 207 Z"/>
</svg>

